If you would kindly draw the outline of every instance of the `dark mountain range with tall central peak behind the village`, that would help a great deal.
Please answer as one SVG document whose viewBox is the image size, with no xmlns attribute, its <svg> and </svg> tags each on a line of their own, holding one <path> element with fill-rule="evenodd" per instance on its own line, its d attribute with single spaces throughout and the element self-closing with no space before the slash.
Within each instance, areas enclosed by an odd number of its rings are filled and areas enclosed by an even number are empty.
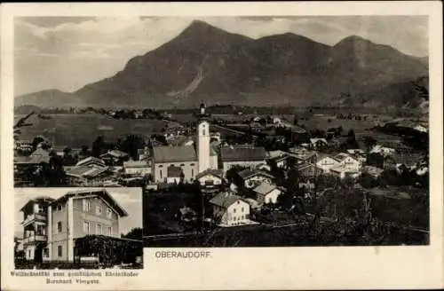
<svg viewBox="0 0 444 291">
<path fill-rule="evenodd" d="M 427 57 L 361 36 L 331 46 L 291 33 L 251 39 L 195 20 L 109 78 L 74 92 L 21 95 L 15 105 L 400 107 L 416 104 L 411 90 L 424 85 Z"/>
</svg>

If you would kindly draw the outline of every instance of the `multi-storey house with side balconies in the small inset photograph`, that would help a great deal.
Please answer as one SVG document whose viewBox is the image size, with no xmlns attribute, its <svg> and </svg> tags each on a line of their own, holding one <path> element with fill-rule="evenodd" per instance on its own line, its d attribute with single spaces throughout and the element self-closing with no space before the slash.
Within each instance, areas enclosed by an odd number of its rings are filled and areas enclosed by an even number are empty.
<svg viewBox="0 0 444 291">
<path fill-rule="evenodd" d="M 106 190 L 69 192 L 57 200 L 36 197 L 20 211 L 25 256 L 35 263 L 74 262 L 76 240 L 91 234 L 119 239 L 120 219 L 128 216 Z"/>
</svg>

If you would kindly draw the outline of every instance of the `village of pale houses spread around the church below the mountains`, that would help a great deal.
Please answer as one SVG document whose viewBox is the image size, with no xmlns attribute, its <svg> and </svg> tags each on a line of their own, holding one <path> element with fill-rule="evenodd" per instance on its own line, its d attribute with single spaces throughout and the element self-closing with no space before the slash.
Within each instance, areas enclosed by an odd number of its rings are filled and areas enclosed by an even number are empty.
<svg viewBox="0 0 444 291">
<path fill-rule="evenodd" d="M 417 193 L 423 193 L 420 199 L 428 195 L 424 122 L 386 122 L 358 137 L 342 127 L 309 129 L 304 121 L 310 117 L 296 114 L 292 122 L 268 115 L 234 124 L 205 110 L 202 104 L 192 122 L 161 116 L 173 125 L 145 140 L 130 135 L 110 145 L 99 137 L 91 150 L 52 146 L 42 137 L 17 140 L 15 183 L 143 187 L 147 240 L 214 227 L 294 225 L 297 219 L 321 216 L 320 211 L 322 219 L 337 220 L 335 193 L 351 193 L 347 199 L 354 195 L 364 205 L 381 197 L 411 204 Z M 377 140 L 377 130 L 393 138 Z M 385 202 L 384 207 L 390 206 Z M 374 213 L 384 212 L 376 208 Z M 425 210 L 416 213 L 423 215 Z M 400 224 L 426 231 L 427 220 L 420 220 Z"/>
</svg>

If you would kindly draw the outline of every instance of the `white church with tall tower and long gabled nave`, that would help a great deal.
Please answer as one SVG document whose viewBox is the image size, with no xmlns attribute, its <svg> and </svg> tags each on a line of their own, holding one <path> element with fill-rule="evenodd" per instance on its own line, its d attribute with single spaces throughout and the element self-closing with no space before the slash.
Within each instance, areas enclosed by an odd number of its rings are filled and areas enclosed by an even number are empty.
<svg viewBox="0 0 444 291">
<path fill-rule="evenodd" d="M 218 153 L 210 147 L 209 115 L 205 105 L 200 106 L 199 122 L 196 128 L 195 146 L 154 146 L 152 173 L 155 183 L 168 180 L 169 169 L 181 169 L 181 179 L 193 182 L 195 177 L 207 169 L 218 169 Z"/>
</svg>

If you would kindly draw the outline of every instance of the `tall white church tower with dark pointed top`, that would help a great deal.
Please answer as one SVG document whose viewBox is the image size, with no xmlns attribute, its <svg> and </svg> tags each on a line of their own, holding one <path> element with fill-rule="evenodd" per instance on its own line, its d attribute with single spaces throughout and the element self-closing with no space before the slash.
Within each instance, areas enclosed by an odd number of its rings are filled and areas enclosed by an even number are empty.
<svg viewBox="0 0 444 291">
<path fill-rule="evenodd" d="M 210 123 L 206 121 L 205 105 L 202 104 L 197 125 L 197 161 L 198 172 L 210 169 Z"/>
</svg>

